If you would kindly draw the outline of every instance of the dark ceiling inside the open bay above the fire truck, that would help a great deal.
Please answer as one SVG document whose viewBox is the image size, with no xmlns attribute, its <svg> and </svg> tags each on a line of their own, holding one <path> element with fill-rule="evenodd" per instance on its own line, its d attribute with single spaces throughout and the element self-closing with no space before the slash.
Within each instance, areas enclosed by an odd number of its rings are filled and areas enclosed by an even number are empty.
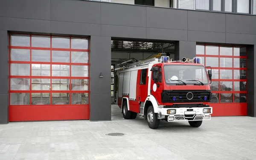
<svg viewBox="0 0 256 160">
<path fill-rule="evenodd" d="M 174 43 L 139 42 L 139 41 L 111 41 L 112 52 L 139 53 L 174 53 Z"/>
</svg>

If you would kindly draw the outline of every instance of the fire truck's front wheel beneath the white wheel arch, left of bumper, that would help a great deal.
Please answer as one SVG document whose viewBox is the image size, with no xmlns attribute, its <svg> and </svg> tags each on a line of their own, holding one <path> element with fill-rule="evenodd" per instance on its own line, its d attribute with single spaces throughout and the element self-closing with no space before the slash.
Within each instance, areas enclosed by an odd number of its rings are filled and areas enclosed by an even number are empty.
<svg viewBox="0 0 256 160">
<path fill-rule="evenodd" d="M 151 129 L 157 129 L 160 124 L 160 119 L 157 119 L 157 113 L 154 113 L 153 106 L 148 107 L 147 111 L 148 126 Z"/>
</svg>

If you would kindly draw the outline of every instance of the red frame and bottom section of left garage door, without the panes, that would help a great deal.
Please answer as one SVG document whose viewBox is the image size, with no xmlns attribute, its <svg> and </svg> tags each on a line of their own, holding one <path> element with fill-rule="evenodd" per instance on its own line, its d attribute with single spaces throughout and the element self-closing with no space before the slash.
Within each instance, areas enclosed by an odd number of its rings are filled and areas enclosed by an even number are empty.
<svg viewBox="0 0 256 160">
<path fill-rule="evenodd" d="M 10 103 L 10 94 L 11 93 L 30 93 L 30 102 L 29 105 L 9 105 L 9 121 L 52 121 L 52 120 L 85 120 L 89 119 L 90 115 L 90 66 L 89 66 L 89 39 L 88 40 L 88 49 L 72 49 L 71 48 L 71 39 L 72 38 L 81 38 L 74 36 L 56 36 L 56 37 L 65 37 L 70 39 L 70 48 L 52 48 L 52 37 L 50 38 L 50 48 L 41 48 L 41 47 L 32 47 L 32 36 L 44 36 L 44 35 L 35 35 L 35 34 L 15 34 L 15 35 L 26 35 L 30 37 L 30 46 L 21 47 L 21 46 L 12 46 L 11 45 L 11 35 L 9 34 L 9 104 Z M 11 60 L 11 49 L 28 49 L 30 50 L 30 61 L 12 61 Z M 50 62 L 32 62 L 32 50 L 48 50 L 50 51 Z M 70 62 L 52 62 L 52 51 L 70 51 Z M 88 52 L 88 63 L 72 63 L 71 61 L 71 52 L 72 51 L 81 51 Z M 30 65 L 30 76 L 11 76 L 11 64 L 29 64 Z M 45 64 L 50 65 L 50 76 L 32 76 L 32 64 Z M 52 76 L 52 65 L 69 65 L 70 66 L 70 76 Z M 83 65 L 88 66 L 88 77 L 72 77 L 71 68 L 72 65 Z M 27 78 L 30 79 L 30 89 L 29 90 L 11 90 L 11 78 Z M 32 90 L 32 79 L 50 79 L 50 90 Z M 69 89 L 70 90 L 52 90 L 52 79 L 69 79 Z M 88 81 L 88 90 L 71 90 L 71 80 L 72 79 L 87 79 Z M 32 93 L 49 93 L 50 104 L 45 105 L 32 105 Z M 71 93 L 87 93 L 88 94 L 88 104 L 52 104 L 52 93 L 70 93 L 70 103 L 71 103 Z"/>
</svg>

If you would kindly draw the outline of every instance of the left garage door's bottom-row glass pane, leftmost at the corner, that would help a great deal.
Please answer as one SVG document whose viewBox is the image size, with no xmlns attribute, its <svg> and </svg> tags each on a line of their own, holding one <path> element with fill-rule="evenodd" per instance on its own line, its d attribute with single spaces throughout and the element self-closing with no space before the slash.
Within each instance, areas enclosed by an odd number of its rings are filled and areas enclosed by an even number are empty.
<svg viewBox="0 0 256 160">
<path fill-rule="evenodd" d="M 10 93 L 10 105 L 29 105 L 30 93 Z"/>
</svg>

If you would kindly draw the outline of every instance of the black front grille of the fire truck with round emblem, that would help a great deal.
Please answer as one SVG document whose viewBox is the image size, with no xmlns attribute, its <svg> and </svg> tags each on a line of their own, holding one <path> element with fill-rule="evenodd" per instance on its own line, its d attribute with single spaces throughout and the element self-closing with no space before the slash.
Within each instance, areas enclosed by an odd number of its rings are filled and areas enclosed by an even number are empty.
<svg viewBox="0 0 256 160">
<path fill-rule="evenodd" d="M 209 102 L 211 91 L 208 90 L 164 90 L 163 103 Z"/>
</svg>

